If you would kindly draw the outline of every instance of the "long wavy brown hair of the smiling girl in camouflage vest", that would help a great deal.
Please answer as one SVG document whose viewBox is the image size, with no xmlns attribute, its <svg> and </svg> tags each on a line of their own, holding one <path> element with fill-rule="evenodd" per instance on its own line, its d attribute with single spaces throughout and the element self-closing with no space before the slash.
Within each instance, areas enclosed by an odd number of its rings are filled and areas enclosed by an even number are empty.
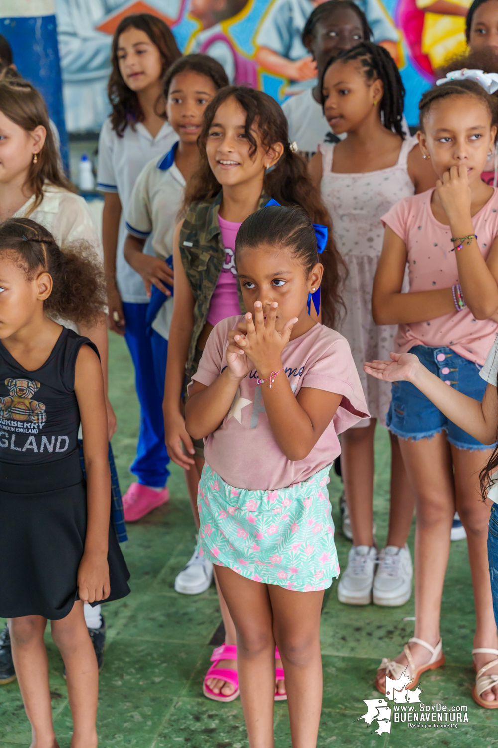
<svg viewBox="0 0 498 748">
<path fill-rule="evenodd" d="M 276 166 L 265 174 L 264 190 L 267 194 L 281 205 L 302 208 L 313 223 L 323 224 L 329 228 L 329 241 L 320 257 L 324 267 L 322 318 L 324 324 L 334 327 L 340 317 L 340 307 L 343 307 L 340 285 L 346 275 L 346 268 L 334 244 L 329 213 L 323 205 L 320 191 L 308 175 L 308 163 L 290 147 L 287 119 L 281 106 L 272 96 L 246 86 L 227 86 L 214 96 L 204 111 L 202 130 L 197 139 L 200 152 L 199 168 L 187 183 L 181 212 L 185 215 L 193 203 L 213 200 L 222 190 L 209 166 L 206 142 L 217 109 L 230 98 L 234 98 L 246 112 L 244 134 L 249 141 L 251 158 L 260 147 L 270 149 L 276 143 L 284 146 L 284 153 Z"/>
</svg>

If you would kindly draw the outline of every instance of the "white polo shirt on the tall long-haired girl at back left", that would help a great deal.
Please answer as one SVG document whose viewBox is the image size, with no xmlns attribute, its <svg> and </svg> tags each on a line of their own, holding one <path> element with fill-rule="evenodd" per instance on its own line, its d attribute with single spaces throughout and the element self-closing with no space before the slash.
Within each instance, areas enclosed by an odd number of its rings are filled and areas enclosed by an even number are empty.
<svg viewBox="0 0 498 748">
<path fill-rule="evenodd" d="M 122 138 L 116 135 L 109 119 L 105 120 L 100 131 L 97 188 L 102 192 L 119 194 L 121 217 L 116 252 L 116 281 L 122 301 L 131 304 L 149 302 L 142 278 L 128 265 L 122 254 L 131 191 L 143 167 L 151 159 L 158 159 L 166 153 L 177 139 L 178 135 L 167 122 L 155 138 L 152 138 L 149 130 L 141 122 L 135 125 L 135 129 L 128 125 Z M 144 251 L 146 254 L 154 254 L 150 242 L 146 242 Z"/>
</svg>

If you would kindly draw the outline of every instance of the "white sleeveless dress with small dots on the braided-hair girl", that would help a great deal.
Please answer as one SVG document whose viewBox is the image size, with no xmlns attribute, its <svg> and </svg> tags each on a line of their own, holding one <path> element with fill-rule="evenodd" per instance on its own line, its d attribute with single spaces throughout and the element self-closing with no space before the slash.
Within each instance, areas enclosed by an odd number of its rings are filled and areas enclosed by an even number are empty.
<svg viewBox="0 0 498 748">
<path fill-rule="evenodd" d="M 370 415 L 383 426 L 391 385 L 365 374 L 363 364 L 374 358 L 389 359 L 396 325 L 376 325 L 373 321 L 372 286 L 384 242 L 382 215 L 403 197 L 415 194 L 407 162 L 417 142 L 415 135 L 403 141 L 396 165 L 355 174 L 332 171 L 334 144 L 318 146 L 322 154 L 322 199 L 332 218 L 337 250 L 349 271 L 342 293 L 346 316 L 337 330 L 351 346 Z"/>
</svg>

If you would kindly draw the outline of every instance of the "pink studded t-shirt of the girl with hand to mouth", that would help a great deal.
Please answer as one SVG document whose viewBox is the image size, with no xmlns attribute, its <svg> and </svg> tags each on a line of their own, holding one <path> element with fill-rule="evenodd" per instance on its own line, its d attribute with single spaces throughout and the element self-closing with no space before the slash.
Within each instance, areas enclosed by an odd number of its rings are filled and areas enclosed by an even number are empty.
<svg viewBox="0 0 498 748">
<path fill-rule="evenodd" d="M 405 242 L 408 254 L 409 292 L 451 288 L 458 283 L 455 252 L 449 226 L 436 221 L 431 208 L 433 189 L 399 200 L 382 217 Z M 486 259 L 498 236 L 498 190 L 472 218 L 482 257 Z M 405 353 L 413 346 L 448 346 L 455 353 L 482 366 L 494 343 L 497 322 L 474 319 L 469 309 L 443 314 L 428 322 L 398 325 L 395 350 Z"/>
</svg>

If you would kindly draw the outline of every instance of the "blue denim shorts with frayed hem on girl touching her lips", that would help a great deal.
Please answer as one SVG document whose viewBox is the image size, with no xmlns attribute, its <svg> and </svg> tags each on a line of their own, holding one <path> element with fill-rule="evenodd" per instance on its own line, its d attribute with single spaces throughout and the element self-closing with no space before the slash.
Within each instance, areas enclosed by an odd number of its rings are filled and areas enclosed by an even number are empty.
<svg viewBox="0 0 498 748">
<path fill-rule="evenodd" d="M 478 364 L 443 346 L 414 346 L 410 349 L 421 364 L 441 381 L 481 402 L 486 382 L 479 376 Z M 408 381 L 395 381 L 391 390 L 391 402 L 387 413 L 387 428 L 401 439 L 430 439 L 442 431 L 446 432 L 449 444 L 458 450 L 488 450 L 494 444 L 481 444 L 459 426 L 455 426 L 417 387 Z"/>
</svg>

